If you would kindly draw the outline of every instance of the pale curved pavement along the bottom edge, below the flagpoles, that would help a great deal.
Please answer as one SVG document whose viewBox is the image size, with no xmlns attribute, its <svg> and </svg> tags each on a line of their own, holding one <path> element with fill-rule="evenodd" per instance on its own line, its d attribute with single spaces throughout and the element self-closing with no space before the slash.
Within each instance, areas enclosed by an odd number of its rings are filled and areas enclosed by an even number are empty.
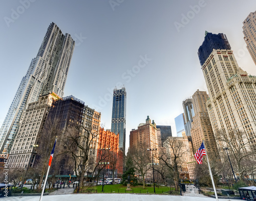
<svg viewBox="0 0 256 201">
<path fill-rule="evenodd" d="M 22 198 L 19 197 L 5 197 L 1 200 L 3 201 L 36 201 L 39 200 L 40 196 L 25 196 Z M 211 197 L 194 197 L 194 196 L 175 196 L 175 195 L 145 195 L 145 194 L 108 194 L 108 193 L 98 193 L 98 194 L 67 194 L 67 195 L 46 195 L 42 198 L 42 201 L 102 201 L 102 200 L 111 200 L 111 201 L 214 201 L 215 198 Z M 219 201 L 228 201 L 228 199 L 219 199 Z M 230 199 L 230 201 L 237 201 L 237 199 Z"/>
</svg>

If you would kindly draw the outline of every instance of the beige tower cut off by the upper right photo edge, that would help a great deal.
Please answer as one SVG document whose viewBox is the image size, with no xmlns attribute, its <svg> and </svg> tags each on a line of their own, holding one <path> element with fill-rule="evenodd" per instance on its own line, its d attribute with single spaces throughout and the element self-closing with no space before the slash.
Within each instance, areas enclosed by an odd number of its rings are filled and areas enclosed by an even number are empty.
<svg viewBox="0 0 256 201">
<path fill-rule="evenodd" d="M 252 60 L 256 65 L 256 11 L 250 13 L 243 21 L 244 40 Z"/>
</svg>

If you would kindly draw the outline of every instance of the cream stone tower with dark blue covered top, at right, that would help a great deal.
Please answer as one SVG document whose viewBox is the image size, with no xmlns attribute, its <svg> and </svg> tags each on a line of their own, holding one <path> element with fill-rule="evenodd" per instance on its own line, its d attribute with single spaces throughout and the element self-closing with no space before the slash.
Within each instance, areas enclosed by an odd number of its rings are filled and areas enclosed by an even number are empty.
<svg viewBox="0 0 256 201">
<path fill-rule="evenodd" d="M 232 129 L 239 129 L 255 142 L 256 77 L 239 68 L 223 33 L 206 32 L 198 56 L 209 92 L 206 105 L 215 135 L 219 130 L 231 135 Z M 217 145 L 222 149 L 221 142 L 217 141 Z"/>
</svg>

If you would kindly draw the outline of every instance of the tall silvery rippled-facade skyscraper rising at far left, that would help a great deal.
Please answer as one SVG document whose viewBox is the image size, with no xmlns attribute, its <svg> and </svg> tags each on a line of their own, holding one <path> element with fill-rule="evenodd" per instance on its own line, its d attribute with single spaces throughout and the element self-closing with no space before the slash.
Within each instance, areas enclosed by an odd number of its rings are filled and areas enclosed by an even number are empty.
<svg viewBox="0 0 256 201">
<path fill-rule="evenodd" d="M 23 112 L 29 103 L 37 101 L 39 95 L 49 92 L 63 96 L 74 46 L 75 41 L 69 34 L 63 35 L 56 24 L 50 24 L 37 56 L 32 59 L 19 84 L 0 129 L 0 152 L 4 145 L 11 149 Z"/>
</svg>

